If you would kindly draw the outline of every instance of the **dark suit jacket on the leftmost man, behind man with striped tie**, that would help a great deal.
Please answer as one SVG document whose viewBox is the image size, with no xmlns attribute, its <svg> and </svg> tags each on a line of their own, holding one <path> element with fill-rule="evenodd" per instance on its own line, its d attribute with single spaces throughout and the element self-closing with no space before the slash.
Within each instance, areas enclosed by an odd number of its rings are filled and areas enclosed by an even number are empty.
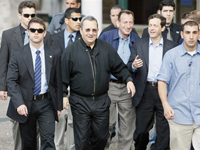
<svg viewBox="0 0 200 150">
<path fill-rule="evenodd" d="M 47 32 L 44 38 L 44 43 L 47 45 L 53 44 L 53 40 L 49 32 Z M 11 51 L 22 46 L 24 46 L 24 43 L 21 36 L 20 26 L 8 29 L 3 32 L 0 50 L 0 91 L 7 91 L 6 76 Z"/>
</svg>

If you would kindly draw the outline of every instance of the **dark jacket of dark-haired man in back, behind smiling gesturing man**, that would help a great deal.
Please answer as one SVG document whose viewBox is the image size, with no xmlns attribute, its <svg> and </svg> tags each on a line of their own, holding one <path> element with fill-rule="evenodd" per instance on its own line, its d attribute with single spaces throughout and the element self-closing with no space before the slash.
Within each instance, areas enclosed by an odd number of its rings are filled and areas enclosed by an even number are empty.
<svg viewBox="0 0 200 150">
<path fill-rule="evenodd" d="M 170 32 L 171 32 L 171 36 L 173 38 L 173 41 L 176 42 L 177 44 L 179 44 L 179 41 L 181 39 L 181 31 L 182 31 L 182 25 L 176 24 L 176 23 L 171 23 L 170 25 Z M 165 28 L 165 30 L 162 33 L 163 38 L 167 38 L 167 29 Z M 143 30 L 142 33 L 142 38 L 145 37 L 149 37 L 149 33 L 148 33 L 148 28 L 145 28 Z"/>
</svg>

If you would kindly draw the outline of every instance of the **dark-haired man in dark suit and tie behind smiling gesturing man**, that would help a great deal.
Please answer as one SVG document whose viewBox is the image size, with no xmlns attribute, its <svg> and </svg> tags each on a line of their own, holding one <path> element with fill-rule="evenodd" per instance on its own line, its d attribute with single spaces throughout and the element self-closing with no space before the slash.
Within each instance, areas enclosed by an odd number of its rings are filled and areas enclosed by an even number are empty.
<svg viewBox="0 0 200 150">
<path fill-rule="evenodd" d="M 180 32 L 182 31 L 182 26 L 173 23 L 173 18 L 175 15 L 175 3 L 173 0 L 161 0 L 159 3 L 160 14 L 166 18 L 166 27 L 163 30 L 162 36 L 168 40 L 174 41 L 179 44 L 181 38 Z M 149 37 L 148 28 L 143 30 L 142 38 Z"/>
</svg>

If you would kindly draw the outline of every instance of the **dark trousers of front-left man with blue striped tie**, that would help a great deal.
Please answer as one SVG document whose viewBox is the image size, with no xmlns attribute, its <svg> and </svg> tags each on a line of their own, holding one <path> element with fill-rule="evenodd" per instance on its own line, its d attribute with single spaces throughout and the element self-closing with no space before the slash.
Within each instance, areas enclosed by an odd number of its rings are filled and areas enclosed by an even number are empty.
<svg viewBox="0 0 200 150">
<path fill-rule="evenodd" d="M 54 131 L 55 116 L 51 100 L 33 100 L 29 118 L 25 123 L 20 123 L 22 137 L 22 150 L 36 150 L 36 122 L 39 124 L 41 150 L 55 150 Z"/>
</svg>

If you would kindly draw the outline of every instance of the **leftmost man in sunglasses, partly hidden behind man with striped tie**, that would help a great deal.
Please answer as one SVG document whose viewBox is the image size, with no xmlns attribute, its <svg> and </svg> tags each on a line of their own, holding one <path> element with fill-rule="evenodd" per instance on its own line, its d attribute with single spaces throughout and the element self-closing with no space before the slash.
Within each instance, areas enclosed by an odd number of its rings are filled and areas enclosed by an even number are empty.
<svg viewBox="0 0 200 150">
<path fill-rule="evenodd" d="M 0 50 L 0 99 L 7 100 L 7 70 L 11 51 L 22 47 L 29 42 L 29 37 L 26 32 L 27 26 L 31 18 L 35 17 L 35 4 L 31 1 L 23 1 L 18 6 L 18 18 L 20 19 L 19 26 L 3 31 L 1 50 Z M 45 43 L 52 44 L 50 33 L 45 37 Z M 13 139 L 15 150 L 21 150 L 21 136 L 19 132 L 19 124 L 11 120 L 13 123 Z"/>
</svg>

